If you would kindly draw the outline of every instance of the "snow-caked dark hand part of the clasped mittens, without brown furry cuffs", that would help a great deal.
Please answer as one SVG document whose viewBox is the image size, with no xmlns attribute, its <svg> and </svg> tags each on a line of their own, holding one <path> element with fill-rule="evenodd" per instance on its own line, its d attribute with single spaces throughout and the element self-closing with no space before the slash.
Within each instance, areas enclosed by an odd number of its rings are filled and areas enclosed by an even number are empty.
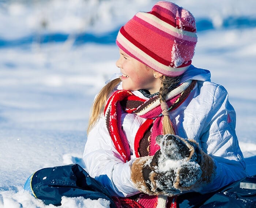
<svg viewBox="0 0 256 208">
<path fill-rule="evenodd" d="M 202 155 L 199 147 L 189 140 L 176 135 L 157 137 L 160 150 L 155 153 L 150 165 L 143 169 L 146 184 L 160 192 L 179 192 L 179 188 L 188 188 L 202 175 L 200 162 Z M 154 176 L 153 180 L 150 180 Z"/>
</svg>

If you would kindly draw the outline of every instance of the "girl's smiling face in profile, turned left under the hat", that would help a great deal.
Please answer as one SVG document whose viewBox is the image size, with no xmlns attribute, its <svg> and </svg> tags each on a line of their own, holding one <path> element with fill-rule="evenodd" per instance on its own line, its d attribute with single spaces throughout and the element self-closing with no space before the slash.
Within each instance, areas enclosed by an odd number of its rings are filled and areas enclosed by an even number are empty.
<svg viewBox="0 0 256 208">
<path fill-rule="evenodd" d="M 120 58 L 117 60 L 116 66 L 122 73 L 123 89 L 132 91 L 146 89 L 151 94 L 159 91 L 161 80 L 154 77 L 154 73 L 157 72 L 132 58 L 123 50 L 119 49 L 119 53 Z"/>
</svg>

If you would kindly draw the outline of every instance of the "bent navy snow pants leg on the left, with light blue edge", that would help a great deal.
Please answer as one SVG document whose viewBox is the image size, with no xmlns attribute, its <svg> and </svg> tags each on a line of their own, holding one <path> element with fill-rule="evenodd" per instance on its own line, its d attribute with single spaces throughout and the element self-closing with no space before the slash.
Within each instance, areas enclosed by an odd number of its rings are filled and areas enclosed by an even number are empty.
<svg viewBox="0 0 256 208">
<path fill-rule="evenodd" d="M 61 197 L 79 197 L 85 199 L 106 199 L 110 207 L 114 202 L 106 188 L 91 178 L 78 164 L 49 167 L 38 170 L 31 175 L 24 185 L 25 190 L 46 205 L 61 205 Z"/>
</svg>

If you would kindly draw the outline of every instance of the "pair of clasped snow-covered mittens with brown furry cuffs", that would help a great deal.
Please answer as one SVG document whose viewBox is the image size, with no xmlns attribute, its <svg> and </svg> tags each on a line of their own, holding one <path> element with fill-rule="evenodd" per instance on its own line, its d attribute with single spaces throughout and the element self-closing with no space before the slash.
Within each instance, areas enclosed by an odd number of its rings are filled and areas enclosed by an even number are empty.
<svg viewBox="0 0 256 208">
<path fill-rule="evenodd" d="M 211 182 L 215 163 L 195 140 L 166 134 L 158 136 L 157 143 L 160 150 L 154 156 L 133 162 L 131 177 L 140 191 L 173 196 Z"/>
</svg>

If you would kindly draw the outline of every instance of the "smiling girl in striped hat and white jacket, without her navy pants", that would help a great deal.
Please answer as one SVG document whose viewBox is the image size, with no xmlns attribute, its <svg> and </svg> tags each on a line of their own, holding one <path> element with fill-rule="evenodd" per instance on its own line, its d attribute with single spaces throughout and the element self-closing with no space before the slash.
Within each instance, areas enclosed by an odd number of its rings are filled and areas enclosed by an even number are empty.
<svg viewBox="0 0 256 208">
<path fill-rule="evenodd" d="M 167 1 L 118 32 L 122 75 L 94 100 L 83 159 L 120 206 L 171 207 L 246 176 L 227 92 L 191 65 L 196 42 L 192 14 Z"/>
</svg>

